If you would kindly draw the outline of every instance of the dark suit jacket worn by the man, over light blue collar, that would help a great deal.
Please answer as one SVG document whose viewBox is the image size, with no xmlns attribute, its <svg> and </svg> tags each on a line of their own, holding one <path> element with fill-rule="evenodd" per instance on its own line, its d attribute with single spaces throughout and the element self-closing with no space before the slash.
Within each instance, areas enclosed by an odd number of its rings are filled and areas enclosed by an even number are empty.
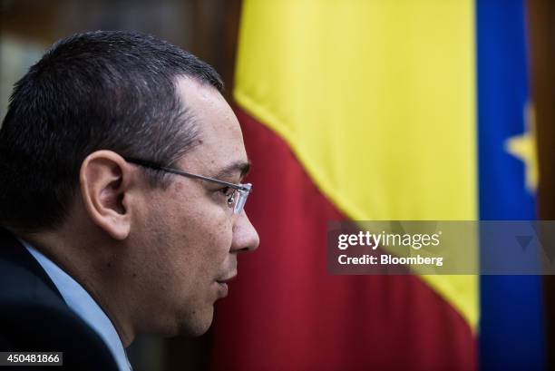
<svg viewBox="0 0 555 371">
<path fill-rule="evenodd" d="M 118 367 L 101 337 L 65 304 L 27 249 L 0 228 L 0 351 L 63 352 L 53 370 L 112 371 Z M 47 370 L 48 366 L 16 366 Z"/>
</svg>

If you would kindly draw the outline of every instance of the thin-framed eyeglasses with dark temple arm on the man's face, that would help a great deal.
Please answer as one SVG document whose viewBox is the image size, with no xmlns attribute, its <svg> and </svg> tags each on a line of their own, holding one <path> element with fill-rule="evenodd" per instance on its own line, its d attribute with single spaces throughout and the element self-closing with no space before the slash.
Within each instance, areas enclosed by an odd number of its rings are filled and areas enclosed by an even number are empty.
<svg viewBox="0 0 555 371">
<path fill-rule="evenodd" d="M 241 211 L 245 207 L 245 203 L 247 202 L 248 194 L 250 193 L 250 190 L 252 190 L 252 184 L 250 183 L 233 184 L 233 183 L 229 183 L 228 181 L 219 181 L 218 179 L 203 177 L 202 175 L 197 175 L 197 174 L 191 174 L 190 172 L 187 172 L 187 171 L 167 168 L 165 166 L 157 165 L 156 163 L 153 163 L 150 161 L 144 161 L 144 160 L 134 159 L 130 157 L 124 157 L 124 160 L 134 163 L 135 165 L 139 165 L 152 170 L 166 171 L 166 172 L 181 175 L 187 178 L 200 179 L 202 181 L 211 181 L 213 183 L 225 185 L 229 187 L 228 192 L 226 192 L 226 197 L 228 198 L 228 206 L 229 208 L 233 209 L 234 214 L 241 213 Z M 239 194 L 239 197 L 238 197 L 238 194 Z"/>
</svg>

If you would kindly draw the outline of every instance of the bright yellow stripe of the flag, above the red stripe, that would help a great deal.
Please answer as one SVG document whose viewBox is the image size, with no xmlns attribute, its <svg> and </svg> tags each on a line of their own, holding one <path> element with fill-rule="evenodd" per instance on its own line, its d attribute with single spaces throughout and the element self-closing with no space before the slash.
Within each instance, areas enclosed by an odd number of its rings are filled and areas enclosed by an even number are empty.
<svg viewBox="0 0 555 371">
<path fill-rule="evenodd" d="M 471 0 L 244 3 L 235 98 L 353 220 L 476 220 Z M 423 277 L 478 321 L 478 281 Z"/>
</svg>

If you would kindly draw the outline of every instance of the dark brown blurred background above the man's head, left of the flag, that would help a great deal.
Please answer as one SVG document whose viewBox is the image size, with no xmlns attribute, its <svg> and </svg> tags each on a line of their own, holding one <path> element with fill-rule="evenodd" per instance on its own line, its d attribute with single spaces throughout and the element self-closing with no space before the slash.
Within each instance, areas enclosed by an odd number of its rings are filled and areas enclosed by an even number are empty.
<svg viewBox="0 0 555 371">
<path fill-rule="evenodd" d="M 91 30 L 141 31 L 168 40 L 212 64 L 230 96 L 240 0 L 0 0 L 0 4 L 2 117 L 12 83 L 45 48 Z"/>
</svg>

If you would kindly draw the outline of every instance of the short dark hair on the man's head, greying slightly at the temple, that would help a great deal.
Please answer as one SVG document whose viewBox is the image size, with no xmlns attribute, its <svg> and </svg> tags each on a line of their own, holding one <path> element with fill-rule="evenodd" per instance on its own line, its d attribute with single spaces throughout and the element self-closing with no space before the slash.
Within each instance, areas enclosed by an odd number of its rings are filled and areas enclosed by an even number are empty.
<svg viewBox="0 0 555 371">
<path fill-rule="evenodd" d="M 165 166 L 190 151 L 199 131 L 179 76 L 223 90 L 208 63 L 151 35 L 95 31 L 54 44 L 15 83 L 0 129 L 0 224 L 59 225 L 93 151 Z"/>
</svg>

